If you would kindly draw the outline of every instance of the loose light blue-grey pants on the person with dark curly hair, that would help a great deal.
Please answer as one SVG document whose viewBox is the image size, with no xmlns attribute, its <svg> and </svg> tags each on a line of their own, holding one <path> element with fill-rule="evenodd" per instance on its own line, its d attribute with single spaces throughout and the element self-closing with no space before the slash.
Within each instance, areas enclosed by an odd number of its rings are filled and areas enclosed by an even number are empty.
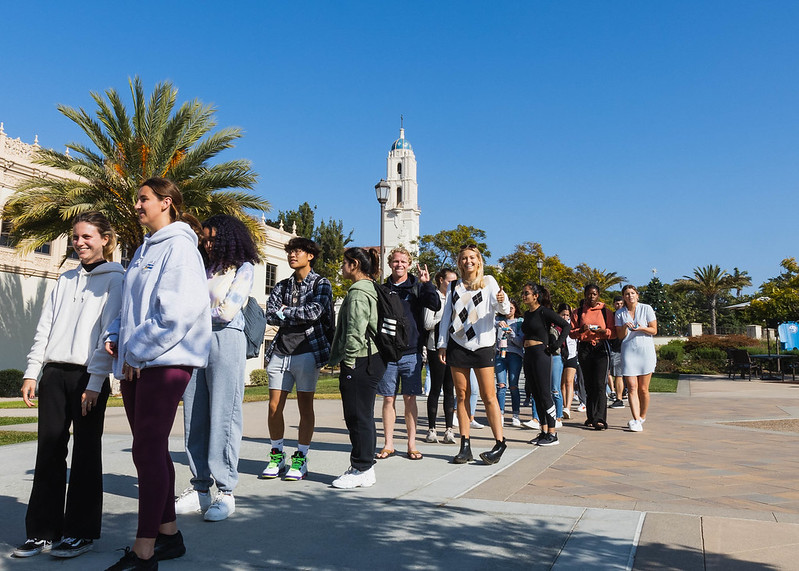
<svg viewBox="0 0 799 571">
<path fill-rule="evenodd" d="M 219 490 L 232 492 L 238 484 L 246 350 L 244 331 L 215 326 L 208 366 L 194 371 L 183 394 L 186 455 L 195 490 L 208 490 L 216 481 Z"/>
</svg>

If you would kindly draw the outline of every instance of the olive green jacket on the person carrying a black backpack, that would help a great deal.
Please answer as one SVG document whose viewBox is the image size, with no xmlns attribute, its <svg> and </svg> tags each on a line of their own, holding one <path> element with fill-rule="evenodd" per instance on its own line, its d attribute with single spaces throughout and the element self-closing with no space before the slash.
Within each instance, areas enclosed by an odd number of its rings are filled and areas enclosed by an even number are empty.
<svg viewBox="0 0 799 571">
<path fill-rule="evenodd" d="M 338 313 L 336 333 L 330 348 L 330 365 L 355 366 L 357 357 L 377 353 L 377 293 L 372 280 L 358 280 L 350 287 Z M 371 335 L 367 337 L 367 328 Z"/>
</svg>

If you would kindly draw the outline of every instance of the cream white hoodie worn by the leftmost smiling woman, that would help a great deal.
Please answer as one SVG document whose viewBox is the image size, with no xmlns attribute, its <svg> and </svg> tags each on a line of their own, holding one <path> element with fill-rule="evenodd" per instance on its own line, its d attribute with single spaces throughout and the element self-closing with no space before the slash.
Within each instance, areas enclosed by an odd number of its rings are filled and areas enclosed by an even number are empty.
<svg viewBox="0 0 799 571">
<path fill-rule="evenodd" d="M 124 268 L 116 262 L 91 272 L 79 266 L 61 274 L 45 300 L 28 353 L 24 378 L 38 379 L 45 363 L 88 367 L 88 390 L 100 392 L 111 372 L 103 332 L 119 316 Z"/>
</svg>

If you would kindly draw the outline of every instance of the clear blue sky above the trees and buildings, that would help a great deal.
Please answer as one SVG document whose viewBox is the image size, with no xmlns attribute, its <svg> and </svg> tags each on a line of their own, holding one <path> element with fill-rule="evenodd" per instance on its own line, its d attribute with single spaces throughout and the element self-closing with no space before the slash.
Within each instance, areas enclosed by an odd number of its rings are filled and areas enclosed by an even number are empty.
<svg viewBox="0 0 799 571">
<path fill-rule="evenodd" d="M 56 104 L 169 79 L 245 130 L 222 158 L 252 161 L 275 214 L 307 200 L 376 244 L 403 114 L 423 234 L 757 286 L 797 254 L 797 29 L 799 2 L 768 0 L 15 2 L 0 121 L 63 148 L 85 139 Z"/>
</svg>

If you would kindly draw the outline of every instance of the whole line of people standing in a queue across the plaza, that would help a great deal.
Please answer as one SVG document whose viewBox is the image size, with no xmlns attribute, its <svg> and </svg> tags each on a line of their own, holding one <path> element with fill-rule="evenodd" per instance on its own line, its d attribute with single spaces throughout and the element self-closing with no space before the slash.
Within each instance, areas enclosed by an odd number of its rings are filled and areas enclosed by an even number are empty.
<svg viewBox="0 0 799 571">
<path fill-rule="evenodd" d="M 182 194 L 167 179 L 145 181 L 135 210 L 148 233 L 127 271 L 110 261 L 116 238 L 105 217 L 92 212 L 75 219 L 72 244 L 80 266 L 59 278 L 44 305 L 22 387 L 25 403 L 32 406 L 36 379 L 41 378 L 27 541 L 14 551 L 16 556 L 49 550 L 58 557 L 74 557 L 91 549 L 99 538 L 101 437 L 111 371 L 120 379 L 133 433 L 139 508 L 133 546 L 109 569 L 155 569 L 159 560 L 183 555 L 178 514 L 199 513 L 207 521 L 221 521 L 235 512 L 246 359 L 243 309 L 258 249 L 236 218 L 217 215 L 200 224 L 184 213 Z M 586 301 L 576 312 L 565 307 L 555 313 L 546 288 L 528 283 L 522 292 L 528 310 L 520 316 L 518 304 L 484 273 L 482 255 L 473 244 L 461 247 L 458 273 L 444 268 L 434 281 L 426 267 L 417 265 L 418 276 L 412 275 L 410 253 L 397 248 L 389 254 L 391 275 L 384 284 L 376 281 L 377 252 L 349 248 L 344 252 L 342 277 L 352 285 L 336 323 L 331 284 L 313 271 L 319 248 L 311 240 L 294 238 L 285 250 L 293 273 L 276 285 L 266 310 L 267 322 L 278 326 L 278 333 L 266 356 L 271 451 L 263 479 L 277 478 L 281 472 L 289 481 L 307 476 L 314 393 L 320 369 L 328 363 L 340 367 L 339 388 L 352 444 L 350 465 L 333 481 L 335 488 L 375 483 L 376 460 L 395 453 L 398 394 L 405 404 L 407 457 L 422 458 L 415 446 L 416 397 L 422 394 L 425 352 L 431 374 L 426 440 L 438 441 L 436 415 L 443 394 L 443 441 L 456 442 L 455 428 L 460 436 L 460 449 L 452 459 L 456 464 L 474 459 L 469 404 L 473 386 L 495 439 L 495 445 L 479 457 L 486 464 L 501 459 L 507 448 L 503 435 L 507 389 L 513 425 L 521 424 L 522 368 L 540 414 L 541 434 L 533 442 L 557 444 L 560 415 L 551 382 L 555 359 L 563 360 L 564 378 L 573 378 L 579 362 L 588 394 L 586 424 L 607 428 L 606 341 L 616 335 L 623 340 L 623 374 L 633 412 L 629 427 L 640 431 L 646 420 L 648 383 L 654 371 L 651 336 L 657 324 L 651 307 L 638 303 L 632 286 L 625 286 L 625 306 L 613 316 L 599 301 L 596 286 L 586 288 Z M 376 342 L 381 317 L 377 288 L 402 300 L 409 342 L 397 361 L 387 361 Z M 287 461 L 283 409 L 295 387 L 298 447 Z M 379 453 L 374 419 L 378 394 L 383 397 L 385 429 Z M 181 399 L 193 477 L 175 499 L 168 437 Z M 70 426 L 74 452 L 67 490 Z M 212 494 L 214 485 L 217 491 Z"/>
</svg>

